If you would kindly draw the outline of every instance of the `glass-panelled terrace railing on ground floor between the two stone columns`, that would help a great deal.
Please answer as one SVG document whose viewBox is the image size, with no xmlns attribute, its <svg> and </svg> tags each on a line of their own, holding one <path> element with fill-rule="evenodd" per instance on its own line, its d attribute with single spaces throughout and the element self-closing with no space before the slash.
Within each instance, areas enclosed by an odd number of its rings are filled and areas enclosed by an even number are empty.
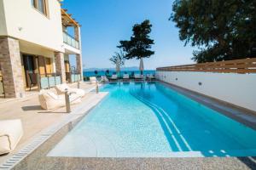
<svg viewBox="0 0 256 170">
<path fill-rule="evenodd" d="M 39 82 L 41 89 L 53 88 L 55 85 L 61 84 L 61 76 L 55 73 L 47 74 L 45 76 L 40 75 Z"/>
</svg>

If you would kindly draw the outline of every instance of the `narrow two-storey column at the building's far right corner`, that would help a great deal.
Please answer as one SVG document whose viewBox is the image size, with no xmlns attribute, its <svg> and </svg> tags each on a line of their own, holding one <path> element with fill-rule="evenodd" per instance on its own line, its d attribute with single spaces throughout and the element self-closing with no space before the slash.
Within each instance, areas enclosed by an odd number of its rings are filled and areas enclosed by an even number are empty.
<svg viewBox="0 0 256 170">
<path fill-rule="evenodd" d="M 79 41 L 80 54 L 76 54 L 77 71 L 81 74 L 83 80 L 83 59 L 82 59 L 82 47 L 81 47 L 81 31 L 80 27 L 75 27 L 75 39 Z"/>
</svg>

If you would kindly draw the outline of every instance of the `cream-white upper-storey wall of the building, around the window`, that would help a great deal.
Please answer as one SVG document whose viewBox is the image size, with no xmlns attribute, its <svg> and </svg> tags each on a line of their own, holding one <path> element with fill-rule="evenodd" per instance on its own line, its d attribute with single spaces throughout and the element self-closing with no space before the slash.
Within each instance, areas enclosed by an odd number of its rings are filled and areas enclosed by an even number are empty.
<svg viewBox="0 0 256 170">
<path fill-rule="evenodd" d="M 47 0 L 47 2 L 48 17 L 33 8 L 31 0 L 0 0 L 1 25 L 3 20 L 1 3 L 3 3 L 7 27 L 7 32 L 5 32 L 0 26 L 0 36 L 15 37 L 45 48 L 64 52 L 61 5 L 57 0 Z"/>
</svg>

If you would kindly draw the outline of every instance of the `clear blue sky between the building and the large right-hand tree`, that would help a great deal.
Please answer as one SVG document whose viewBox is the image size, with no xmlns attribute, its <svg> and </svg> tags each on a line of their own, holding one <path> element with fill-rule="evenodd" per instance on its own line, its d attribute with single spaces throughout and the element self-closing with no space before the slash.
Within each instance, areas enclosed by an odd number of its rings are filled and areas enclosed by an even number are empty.
<svg viewBox="0 0 256 170">
<path fill-rule="evenodd" d="M 168 18 L 172 0 L 64 0 L 63 8 L 82 25 L 82 53 L 84 68 L 113 67 L 109 58 L 119 40 L 131 37 L 131 28 L 143 20 L 150 20 L 151 38 L 155 54 L 144 59 L 145 69 L 159 66 L 193 63 L 189 45 L 184 47 L 178 30 Z M 138 66 L 137 59 L 125 61 L 125 66 Z"/>
</svg>

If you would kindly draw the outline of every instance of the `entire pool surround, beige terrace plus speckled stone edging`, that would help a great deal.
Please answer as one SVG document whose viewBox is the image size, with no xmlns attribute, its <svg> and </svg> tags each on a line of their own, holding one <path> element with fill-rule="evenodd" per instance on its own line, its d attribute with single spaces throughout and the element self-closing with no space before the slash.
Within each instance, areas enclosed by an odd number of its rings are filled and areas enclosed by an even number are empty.
<svg viewBox="0 0 256 170">
<path fill-rule="evenodd" d="M 91 88 L 90 85 L 84 84 L 84 86 L 86 86 L 86 88 Z M 251 111 L 236 108 L 233 105 L 228 105 L 219 100 L 211 99 L 207 96 L 196 94 L 170 84 L 168 86 L 170 86 L 170 88 L 175 88 L 180 93 L 185 94 L 189 96 L 189 98 L 195 99 L 214 110 L 221 111 L 224 115 L 230 116 L 249 127 L 256 127 L 256 115 Z M 41 137 L 44 137 L 46 134 L 44 133 L 44 129 L 46 127 L 51 128 L 53 125 L 62 122 L 60 128 L 55 128 L 56 132 L 51 130 L 50 132 L 52 132 L 52 134 L 49 135 L 49 138 L 40 144 L 36 150 L 31 150 L 32 152 L 30 153 L 27 152 L 26 157 L 22 161 L 16 162 L 15 167 L 12 169 L 256 169 L 256 157 L 251 156 L 179 158 L 83 158 L 47 156 L 49 150 L 52 150 L 55 147 L 55 144 L 58 144 L 58 142 L 73 129 L 79 120 L 106 95 L 107 94 L 104 93 L 95 94 L 94 92 L 87 94 L 83 99 L 84 105 L 73 105 L 72 110 L 75 113 L 71 114 L 65 113 L 65 108 L 52 112 L 39 110 L 37 106 L 38 100 L 35 96 L 12 101 L 10 104 L 6 103 L 4 104 L 5 110 L 2 110 L 1 106 L 3 106 L 3 104 L 0 104 L 0 120 L 20 118 L 26 122 L 24 123 L 25 135 L 21 139 L 17 149 L 8 156 L 0 157 L 0 165 L 2 158 L 2 161 L 10 158 L 9 162 L 11 164 L 11 157 L 15 155 L 20 156 L 18 151 L 26 144 L 29 144 L 33 139 L 37 139 L 38 136 L 36 135 L 38 133 L 41 133 Z M 11 107 L 13 105 L 15 105 L 15 108 Z M 4 114 L 2 114 L 2 111 L 4 111 Z M 66 121 L 63 122 L 63 120 Z M 13 158 L 13 160 L 15 161 L 15 158 Z"/>
</svg>

